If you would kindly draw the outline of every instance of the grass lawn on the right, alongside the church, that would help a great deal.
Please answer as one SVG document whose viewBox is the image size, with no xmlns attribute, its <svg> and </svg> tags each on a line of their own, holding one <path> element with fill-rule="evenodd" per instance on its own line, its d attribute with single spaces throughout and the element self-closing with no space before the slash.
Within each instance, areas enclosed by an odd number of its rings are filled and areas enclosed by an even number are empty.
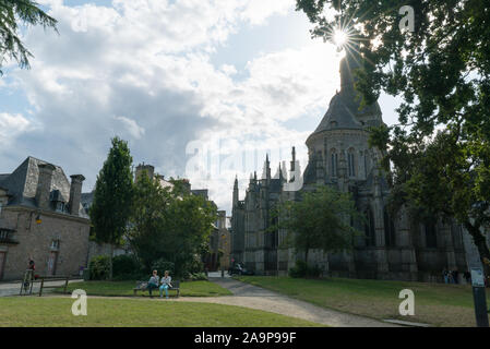
<svg viewBox="0 0 490 349">
<path fill-rule="evenodd" d="M 240 276 L 237 279 L 324 308 L 374 318 L 398 318 L 435 326 L 476 326 L 471 287 L 467 285 Z M 415 316 L 402 316 L 399 291 L 415 293 Z M 487 302 L 490 304 L 490 298 Z"/>
</svg>

